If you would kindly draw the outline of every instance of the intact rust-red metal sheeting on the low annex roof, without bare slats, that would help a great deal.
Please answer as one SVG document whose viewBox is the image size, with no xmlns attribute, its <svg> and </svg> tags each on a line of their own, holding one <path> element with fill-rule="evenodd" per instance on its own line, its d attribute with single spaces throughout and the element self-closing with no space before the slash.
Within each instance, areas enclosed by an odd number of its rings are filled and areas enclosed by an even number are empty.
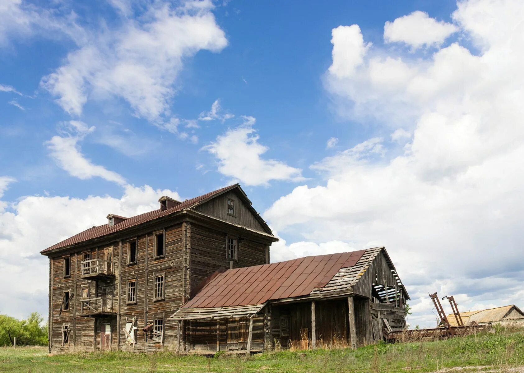
<svg viewBox="0 0 524 373">
<path fill-rule="evenodd" d="M 278 263 L 228 269 L 216 276 L 182 308 L 261 304 L 308 295 L 322 288 L 341 268 L 353 267 L 366 250 L 308 256 Z"/>
</svg>

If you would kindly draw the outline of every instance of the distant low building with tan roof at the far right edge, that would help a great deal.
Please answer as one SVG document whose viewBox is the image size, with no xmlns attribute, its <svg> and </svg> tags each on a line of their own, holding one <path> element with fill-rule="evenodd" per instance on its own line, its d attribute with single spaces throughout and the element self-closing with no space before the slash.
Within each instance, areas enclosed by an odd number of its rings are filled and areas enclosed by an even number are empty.
<svg viewBox="0 0 524 373">
<path fill-rule="evenodd" d="M 503 326 L 524 326 L 524 312 L 515 304 L 505 305 L 502 307 L 491 308 L 480 311 L 460 312 L 464 325 L 495 325 Z M 447 315 L 447 321 L 451 326 L 457 326 L 455 315 Z M 439 327 L 442 323 L 439 324 Z"/>
</svg>

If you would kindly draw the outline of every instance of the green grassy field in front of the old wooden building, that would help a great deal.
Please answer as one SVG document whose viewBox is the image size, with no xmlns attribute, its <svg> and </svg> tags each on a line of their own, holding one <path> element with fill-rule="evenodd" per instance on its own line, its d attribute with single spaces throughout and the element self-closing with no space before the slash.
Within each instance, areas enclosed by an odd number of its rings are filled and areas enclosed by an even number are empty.
<svg viewBox="0 0 524 373">
<path fill-rule="evenodd" d="M 498 332 L 356 350 L 275 351 L 250 357 L 122 352 L 48 356 L 47 348 L 0 348 L 0 372 L 524 372 L 524 334 Z M 460 367 L 460 368 L 457 368 Z M 455 369 L 453 369 L 455 368 Z"/>
</svg>

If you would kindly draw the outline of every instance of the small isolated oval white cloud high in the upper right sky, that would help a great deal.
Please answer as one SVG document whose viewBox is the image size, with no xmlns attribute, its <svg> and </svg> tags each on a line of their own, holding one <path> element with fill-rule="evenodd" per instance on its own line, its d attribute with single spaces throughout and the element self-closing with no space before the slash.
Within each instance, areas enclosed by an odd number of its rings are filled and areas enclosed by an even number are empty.
<svg viewBox="0 0 524 373">
<path fill-rule="evenodd" d="M 440 46 L 448 37 L 459 30 L 453 24 L 437 21 L 427 13 L 416 10 L 384 25 L 384 41 L 403 42 L 413 49 L 422 46 Z"/>
</svg>

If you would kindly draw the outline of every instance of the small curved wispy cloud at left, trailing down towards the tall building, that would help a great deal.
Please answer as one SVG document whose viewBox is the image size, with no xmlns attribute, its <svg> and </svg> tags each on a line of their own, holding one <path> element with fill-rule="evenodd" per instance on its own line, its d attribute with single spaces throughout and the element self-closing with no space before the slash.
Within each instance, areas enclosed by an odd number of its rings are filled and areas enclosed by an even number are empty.
<svg viewBox="0 0 524 373">
<path fill-rule="evenodd" d="M 67 171 L 71 176 L 81 180 L 88 180 L 99 177 L 107 181 L 115 182 L 120 185 L 126 183 L 125 179 L 114 171 L 107 170 L 105 167 L 93 164 L 81 152 L 78 142 L 85 135 L 94 131 L 95 127 L 88 127 L 80 120 L 70 120 L 64 123 L 63 136 L 53 136 L 46 145 L 51 152 L 51 157 L 57 162 L 58 166 Z M 72 133 L 72 134 L 71 134 Z"/>
</svg>

